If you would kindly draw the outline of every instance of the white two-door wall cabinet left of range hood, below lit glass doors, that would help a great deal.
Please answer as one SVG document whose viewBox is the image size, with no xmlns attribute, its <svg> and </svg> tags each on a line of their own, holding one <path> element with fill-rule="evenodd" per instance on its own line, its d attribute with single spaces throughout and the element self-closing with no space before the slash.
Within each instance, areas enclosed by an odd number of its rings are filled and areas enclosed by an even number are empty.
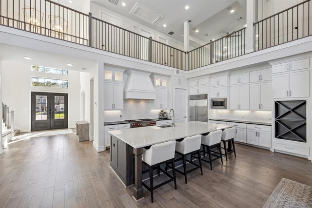
<svg viewBox="0 0 312 208">
<path fill-rule="evenodd" d="M 123 84 L 104 82 L 104 110 L 123 110 Z"/>
</svg>

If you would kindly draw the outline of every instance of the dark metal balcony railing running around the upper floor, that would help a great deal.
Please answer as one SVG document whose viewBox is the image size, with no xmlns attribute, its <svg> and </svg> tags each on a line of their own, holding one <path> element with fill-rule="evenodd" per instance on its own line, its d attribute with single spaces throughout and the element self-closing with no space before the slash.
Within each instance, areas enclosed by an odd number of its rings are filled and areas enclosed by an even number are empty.
<svg viewBox="0 0 312 208">
<path fill-rule="evenodd" d="M 254 23 L 254 51 L 311 36 L 310 1 Z M 51 0 L 0 0 L 0 24 L 181 70 L 246 53 L 246 28 L 184 52 Z"/>
</svg>

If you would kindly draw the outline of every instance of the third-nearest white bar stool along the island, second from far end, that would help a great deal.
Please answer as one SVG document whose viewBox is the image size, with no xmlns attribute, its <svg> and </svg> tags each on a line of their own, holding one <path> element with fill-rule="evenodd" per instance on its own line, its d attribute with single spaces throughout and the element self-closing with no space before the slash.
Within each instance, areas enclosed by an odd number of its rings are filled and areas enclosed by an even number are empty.
<svg viewBox="0 0 312 208">
<path fill-rule="evenodd" d="M 201 136 L 201 145 L 204 146 L 204 156 L 205 156 L 205 148 L 207 149 L 207 153 L 209 156 L 209 161 L 206 159 L 202 159 L 202 161 L 210 163 L 211 170 L 213 170 L 213 165 L 212 165 L 213 161 L 217 159 L 221 159 L 221 163 L 223 164 L 222 151 L 221 151 L 221 136 L 222 136 L 221 130 L 210 132 L 207 135 Z M 212 151 L 211 150 L 212 148 L 218 148 L 218 151 Z M 212 155 L 215 156 L 214 159 L 212 159 Z"/>
</svg>

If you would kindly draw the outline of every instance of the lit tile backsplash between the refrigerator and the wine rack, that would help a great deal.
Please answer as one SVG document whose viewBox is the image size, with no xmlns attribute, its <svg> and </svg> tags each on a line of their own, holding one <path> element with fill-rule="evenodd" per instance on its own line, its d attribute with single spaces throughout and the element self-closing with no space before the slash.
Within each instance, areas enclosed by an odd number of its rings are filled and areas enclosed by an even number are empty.
<svg viewBox="0 0 312 208">
<path fill-rule="evenodd" d="M 215 111 L 215 118 L 241 121 L 272 122 L 271 111 Z"/>
</svg>

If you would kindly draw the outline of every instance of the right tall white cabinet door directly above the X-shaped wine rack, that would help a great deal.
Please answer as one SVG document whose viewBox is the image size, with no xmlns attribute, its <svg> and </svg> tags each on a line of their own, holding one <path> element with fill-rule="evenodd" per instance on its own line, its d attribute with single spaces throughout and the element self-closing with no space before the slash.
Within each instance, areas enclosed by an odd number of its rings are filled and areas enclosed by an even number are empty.
<svg viewBox="0 0 312 208">
<path fill-rule="evenodd" d="M 309 97 L 309 71 L 289 74 L 289 96 Z"/>
</svg>

